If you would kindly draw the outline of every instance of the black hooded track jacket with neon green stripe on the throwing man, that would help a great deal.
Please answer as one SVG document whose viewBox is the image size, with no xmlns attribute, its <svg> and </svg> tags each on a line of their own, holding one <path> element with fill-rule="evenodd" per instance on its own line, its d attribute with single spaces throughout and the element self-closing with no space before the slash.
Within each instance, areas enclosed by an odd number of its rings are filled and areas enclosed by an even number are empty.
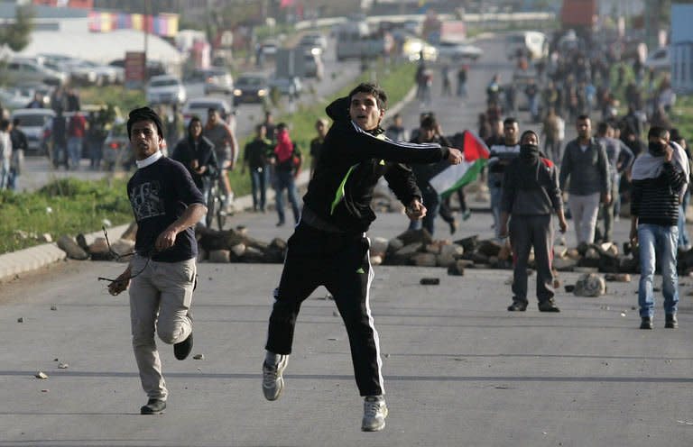
<svg viewBox="0 0 693 447">
<path fill-rule="evenodd" d="M 334 123 L 303 203 L 341 231 L 364 233 L 375 220 L 371 200 L 379 178 L 384 176 L 402 204 L 409 205 L 421 193 L 405 164 L 444 160 L 449 150 L 438 143 L 392 141 L 380 128 L 365 132 L 351 120 L 348 108 L 349 98 L 343 97 L 326 109 Z"/>
</svg>

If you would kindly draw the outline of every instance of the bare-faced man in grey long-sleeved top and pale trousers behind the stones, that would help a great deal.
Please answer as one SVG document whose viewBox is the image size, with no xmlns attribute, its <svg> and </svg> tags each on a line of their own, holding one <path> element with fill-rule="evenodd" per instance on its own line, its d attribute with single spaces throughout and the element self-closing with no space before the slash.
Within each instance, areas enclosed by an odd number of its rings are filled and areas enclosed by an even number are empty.
<svg viewBox="0 0 693 447">
<path fill-rule="evenodd" d="M 560 165 L 560 190 L 568 188 L 568 207 L 575 222 L 577 245 L 595 240 L 596 216 L 600 201 L 611 203 L 609 163 L 605 148 L 592 138 L 589 117 L 577 117 L 577 138 L 569 141 Z"/>
</svg>

